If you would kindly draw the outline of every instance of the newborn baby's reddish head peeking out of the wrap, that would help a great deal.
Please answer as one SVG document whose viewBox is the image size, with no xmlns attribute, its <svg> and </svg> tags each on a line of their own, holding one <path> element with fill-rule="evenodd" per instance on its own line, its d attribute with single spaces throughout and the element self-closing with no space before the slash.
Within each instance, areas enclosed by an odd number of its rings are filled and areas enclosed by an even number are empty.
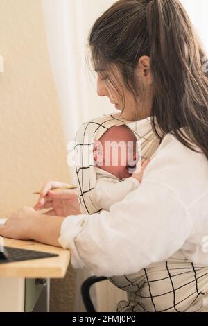
<svg viewBox="0 0 208 326">
<path fill-rule="evenodd" d="M 137 138 L 128 126 L 114 126 L 94 143 L 95 166 L 120 180 L 132 176 L 138 158 Z"/>
</svg>

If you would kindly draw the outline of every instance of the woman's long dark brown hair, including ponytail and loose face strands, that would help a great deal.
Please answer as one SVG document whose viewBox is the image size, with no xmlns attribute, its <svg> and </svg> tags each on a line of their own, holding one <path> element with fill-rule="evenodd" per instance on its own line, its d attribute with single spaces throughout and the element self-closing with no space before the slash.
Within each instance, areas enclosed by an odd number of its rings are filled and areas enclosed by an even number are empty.
<svg viewBox="0 0 208 326">
<path fill-rule="evenodd" d="M 148 55 L 153 74 L 151 121 L 155 134 L 163 139 L 171 132 L 208 159 L 205 51 L 179 0 L 116 1 L 96 20 L 89 48 L 94 69 L 101 73 L 116 65 L 123 85 L 135 100 L 143 92 L 137 64 L 142 55 Z M 124 109 L 121 85 L 112 79 L 107 83 L 121 96 Z"/>
</svg>

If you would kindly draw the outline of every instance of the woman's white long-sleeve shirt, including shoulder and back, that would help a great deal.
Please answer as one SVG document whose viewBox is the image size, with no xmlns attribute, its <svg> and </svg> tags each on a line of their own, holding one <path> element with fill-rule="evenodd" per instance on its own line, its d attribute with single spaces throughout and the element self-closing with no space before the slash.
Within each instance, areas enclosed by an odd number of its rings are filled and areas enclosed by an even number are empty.
<svg viewBox="0 0 208 326">
<path fill-rule="evenodd" d="M 137 273 L 177 250 L 208 266 L 208 161 L 167 135 L 135 191 L 101 214 L 69 216 L 60 244 L 74 268 Z"/>
</svg>

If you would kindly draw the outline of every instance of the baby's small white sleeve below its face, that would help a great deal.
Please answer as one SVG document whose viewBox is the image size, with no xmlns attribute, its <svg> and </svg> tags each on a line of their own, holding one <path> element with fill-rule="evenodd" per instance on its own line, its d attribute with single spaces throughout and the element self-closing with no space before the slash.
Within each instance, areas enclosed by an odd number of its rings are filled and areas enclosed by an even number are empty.
<svg viewBox="0 0 208 326">
<path fill-rule="evenodd" d="M 140 182 L 135 178 L 128 178 L 124 181 L 100 178 L 97 180 L 95 193 L 96 202 L 99 207 L 110 211 L 110 207 L 123 200 L 131 191 L 137 189 Z"/>
</svg>

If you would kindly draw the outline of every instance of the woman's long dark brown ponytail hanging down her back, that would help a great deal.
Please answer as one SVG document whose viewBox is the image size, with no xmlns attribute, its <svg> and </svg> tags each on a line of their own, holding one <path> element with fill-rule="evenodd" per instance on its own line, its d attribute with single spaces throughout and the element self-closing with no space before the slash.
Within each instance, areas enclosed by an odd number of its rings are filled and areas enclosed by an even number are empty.
<svg viewBox="0 0 208 326">
<path fill-rule="evenodd" d="M 165 134 L 172 132 L 194 149 L 188 136 L 208 158 L 208 79 L 202 71 L 205 51 L 180 1 L 149 2 L 146 16 L 155 78 L 153 115 Z"/>
</svg>

